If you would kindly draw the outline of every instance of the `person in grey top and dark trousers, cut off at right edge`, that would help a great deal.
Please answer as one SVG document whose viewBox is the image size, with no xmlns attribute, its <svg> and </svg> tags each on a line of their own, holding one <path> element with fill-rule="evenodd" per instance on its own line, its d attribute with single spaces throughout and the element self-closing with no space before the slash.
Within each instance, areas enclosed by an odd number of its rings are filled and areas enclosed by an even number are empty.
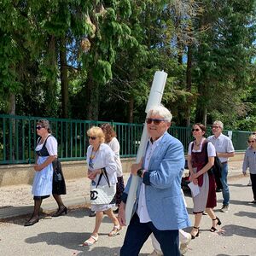
<svg viewBox="0 0 256 256">
<path fill-rule="evenodd" d="M 249 147 L 244 155 L 242 173 L 246 175 L 247 168 L 249 168 L 253 190 L 253 201 L 251 203 L 256 204 L 256 135 L 249 136 L 247 142 Z"/>
</svg>

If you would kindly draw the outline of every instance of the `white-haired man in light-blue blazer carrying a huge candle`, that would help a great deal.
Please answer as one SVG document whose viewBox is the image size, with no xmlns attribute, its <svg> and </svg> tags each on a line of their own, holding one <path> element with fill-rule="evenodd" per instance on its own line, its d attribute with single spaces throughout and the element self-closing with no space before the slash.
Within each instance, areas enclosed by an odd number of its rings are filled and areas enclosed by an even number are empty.
<svg viewBox="0 0 256 256">
<path fill-rule="evenodd" d="M 178 230 L 190 225 L 181 192 L 183 145 L 167 133 L 172 113 L 163 107 L 147 113 L 148 145 L 142 161 L 131 166 L 138 178 L 137 198 L 120 256 L 137 256 L 148 236 L 154 234 L 166 256 L 178 256 Z M 119 223 L 126 224 L 125 203 L 131 176 L 119 206 Z"/>
</svg>

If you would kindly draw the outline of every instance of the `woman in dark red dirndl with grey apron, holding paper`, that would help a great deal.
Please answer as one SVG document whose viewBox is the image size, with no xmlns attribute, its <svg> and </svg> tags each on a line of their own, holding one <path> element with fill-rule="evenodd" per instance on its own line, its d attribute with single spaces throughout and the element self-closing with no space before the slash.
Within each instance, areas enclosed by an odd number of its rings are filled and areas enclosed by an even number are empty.
<svg viewBox="0 0 256 256">
<path fill-rule="evenodd" d="M 204 210 L 206 210 L 208 216 L 212 218 L 211 232 L 215 232 L 217 225 L 221 224 L 221 221 L 213 212 L 213 207 L 217 206 L 217 199 L 215 180 L 211 168 L 214 165 L 216 152 L 212 143 L 207 142 L 205 138 L 206 131 L 207 129 L 204 125 L 199 123 L 195 124 L 192 129 L 195 141 L 189 143 L 188 166 L 190 180 L 195 185 L 198 185 L 200 191 L 198 195 L 192 194 L 194 202 L 193 213 L 195 215 L 194 227 L 190 233 L 192 239 L 199 236 L 199 225 Z"/>
</svg>

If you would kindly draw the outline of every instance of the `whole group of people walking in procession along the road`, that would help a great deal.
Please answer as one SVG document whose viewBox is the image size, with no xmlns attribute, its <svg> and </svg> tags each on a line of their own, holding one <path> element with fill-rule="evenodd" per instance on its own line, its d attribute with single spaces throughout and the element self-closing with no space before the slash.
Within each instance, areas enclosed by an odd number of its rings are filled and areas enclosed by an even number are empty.
<svg viewBox="0 0 256 256">
<path fill-rule="evenodd" d="M 194 224 L 190 233 L 183 229 L 191 226 L 186 201 L 181 189 L 184 169 L 183 144 L 172 137 L 167 130 L 171 126 L 172 113 L 163 106 L 151 108 L 146 117 L 148 143 L 142 160 L 131 166 L 131 176 L 124 184 L 122 165 L 119 158 L 119 141 L 113 126 L 103 124 L 92 126 L 87 131 L 90 146 L 86 152 L 87 177 L 90 179 L 91 213 L 95 216 L 95 227 L 84 247 L 90 247 L 99 239 L 99 229 L 103 214 L 113 223 L 108 236 L 116 236 L 126 225 L 125 207 L 131 186 L 131 177 L 138 177 L 136 201 L 131 221 L 127 226 L 125 240 L 120 249 L 121 256 L 138 255 L 145 241 L 151 237 L 156 255 L 183 255 L 191 239 L 200 235 L 203 214 L 212 219 L 209 231 L 215 232 L 222 224 L 213 211 L 217 206 L 216 189 L 221 186 L 223 206 L 220 212 L 230 208 L 230 189 L 227 182 L 228 160 L 235 154 L 230 137 L 222 131 L 221 121 L 212 124 L 212 136 L 206 137 L 207 128 L 197 123 L 193 125 L 194 140 L 189 143 L 188 166 L 191 195 L 194 203 Z M 61 200 L 66 194 L 66 185 L 61 165 L 57 158 L 57 141 L 51 134 L 49 121 L 41 119 L 37 123 L 38 143 L 35 148 L 37 157 L 34 166 L 35 176 L 32 185 L 34 211 L 25 226 L 38 223 L 42 201 L 53 195 L 58 210 L 53 217 L 67 214 L 67 207 Z M 256 132 L 248 137 L 242 172 L 247 168 L 256 203 Z M 213 168 L 216 158 L 222 165 L 220 181 L 214 177 Z M 113 209 L 115 208 L 115 211 Z M 205 213 L 206 212 L 206 213 Z M 118 213 L 118 216 L 115 215 Z"/>
</svg>

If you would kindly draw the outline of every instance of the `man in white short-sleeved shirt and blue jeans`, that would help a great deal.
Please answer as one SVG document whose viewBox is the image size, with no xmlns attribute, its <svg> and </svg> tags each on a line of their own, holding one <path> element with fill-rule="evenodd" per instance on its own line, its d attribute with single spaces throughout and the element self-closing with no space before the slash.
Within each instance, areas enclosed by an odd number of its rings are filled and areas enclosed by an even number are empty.
<svg viewBox="0 0 256 256">
<path fill-rule="evenodd" d="M 207 140 L 214 145 L 216 149 L 216 154 L 221 163 L 223 164 L 220 181 L 223 186 L 222 195 L 224 200 L 220 212 L 228 212 L 230 208 L 230 189 L 228 185 L 228 160 L 230 157 L 233 157 L 235 155 L 235 149 L 230 138 L 222 133 L 223 129 L 224 125 L 221 121 L 214 121 L 212 124 L 213 135 L 208 137 Z"/>
</svg>

